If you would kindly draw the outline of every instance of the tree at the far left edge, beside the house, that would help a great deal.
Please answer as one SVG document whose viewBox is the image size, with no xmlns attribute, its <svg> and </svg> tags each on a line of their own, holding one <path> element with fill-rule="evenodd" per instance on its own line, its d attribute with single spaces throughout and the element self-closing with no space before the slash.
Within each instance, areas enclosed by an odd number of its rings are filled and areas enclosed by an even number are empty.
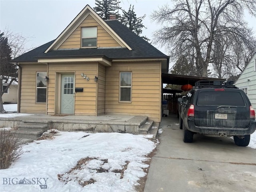
<svg viewBox="0 0 256 192">
<path fill-rule="evenodd" d="M 8 28 L 4 32 L 0 32 L 0 113 L 6 112 L 3 107 L 2 95 L 13 82 L 18 82 L 18 65 L 11 63 L 10 60 L 31 50 L 32 48 L 26 48 L 29 41 L 30 37 L 14 33 Z M 4 90 L 3 84 L 5 85 Z"/>
</svg>

